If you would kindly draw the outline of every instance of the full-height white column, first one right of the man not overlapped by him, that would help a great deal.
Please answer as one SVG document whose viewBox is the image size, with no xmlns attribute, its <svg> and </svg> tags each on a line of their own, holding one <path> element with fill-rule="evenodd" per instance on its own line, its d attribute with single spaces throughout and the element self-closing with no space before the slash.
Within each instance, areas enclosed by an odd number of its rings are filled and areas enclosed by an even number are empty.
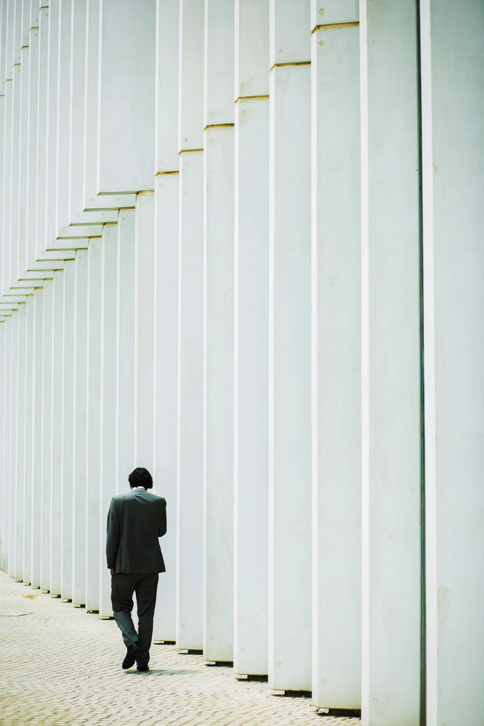
<svg viewBox="0 0 484 726">
<path fill-rule="evenodd" d="M 203 643 L 203 0 L 180 2 L 176 644 Z"/>
</svg>

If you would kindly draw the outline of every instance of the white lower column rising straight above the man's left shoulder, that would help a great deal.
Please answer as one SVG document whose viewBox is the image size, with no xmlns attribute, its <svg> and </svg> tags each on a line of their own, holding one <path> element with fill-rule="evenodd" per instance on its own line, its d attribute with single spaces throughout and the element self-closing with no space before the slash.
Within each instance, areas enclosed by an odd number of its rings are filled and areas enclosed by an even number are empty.
<svg viewBox="0 0 484 726">
<path fill-rule="evenodd" d="M 134 209 L 120 209 L 116 305 L 116 494 L 128 492 L 128 476 L 134 469 L 134 228 Z M 103 516 L 105 528 L 107 511 Z"/>
</svg>

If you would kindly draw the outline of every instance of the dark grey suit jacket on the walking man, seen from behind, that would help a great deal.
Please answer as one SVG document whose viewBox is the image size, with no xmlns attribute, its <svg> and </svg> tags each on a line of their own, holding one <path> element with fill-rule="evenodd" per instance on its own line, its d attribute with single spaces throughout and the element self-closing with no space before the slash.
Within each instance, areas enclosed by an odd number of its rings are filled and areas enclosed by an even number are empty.
<svg viewBox="0 0 484 726">
<path fill-rule="evenodd" d="M 166 532 L 166 502 L 144 488 L 112 497 L 107 515 L 107 568 L 120 572 L 165 572 L 158 537 Z"/>
</svg>

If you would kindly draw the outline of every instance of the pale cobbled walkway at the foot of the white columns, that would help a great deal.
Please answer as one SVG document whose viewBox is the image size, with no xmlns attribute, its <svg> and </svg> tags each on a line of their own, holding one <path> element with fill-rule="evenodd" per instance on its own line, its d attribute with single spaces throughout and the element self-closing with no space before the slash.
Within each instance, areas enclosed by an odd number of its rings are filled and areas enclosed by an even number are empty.
<svg viewBox="0 0 484 726">
<path fill-rule="evenodd" d="M 112 620 L 42 595 L 0 573 L 0 725 L 320 726 L 359 724 L 316 714 L 307 698 L 274 696 L 266 682 L 173 645 L 153 645 L 149 673 L 123 671 Z"/>
</svg>

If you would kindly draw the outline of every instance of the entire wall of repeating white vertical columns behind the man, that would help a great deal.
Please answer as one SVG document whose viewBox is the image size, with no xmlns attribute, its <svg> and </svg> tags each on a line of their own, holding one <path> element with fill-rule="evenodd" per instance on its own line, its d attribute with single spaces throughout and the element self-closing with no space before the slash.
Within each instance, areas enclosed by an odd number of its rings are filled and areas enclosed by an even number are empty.
<svg viewBox="0 0 484 726">
<path fill-rule="evenodd" d="M 368 725 L 480 725 L 478 0 L 3 0 L 0 565 Z M 448 38 L 451 36 L 451 54 Z"/>
</svg>

